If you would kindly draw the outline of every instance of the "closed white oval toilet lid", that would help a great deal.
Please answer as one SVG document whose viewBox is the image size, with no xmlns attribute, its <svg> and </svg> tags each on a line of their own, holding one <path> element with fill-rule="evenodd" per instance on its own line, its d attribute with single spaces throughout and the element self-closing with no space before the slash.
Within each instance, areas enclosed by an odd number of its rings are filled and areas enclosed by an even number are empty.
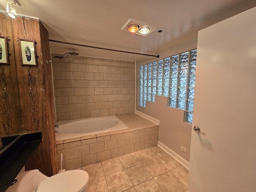
<svg viewBox="0 0 256 192">
<path fill-rule="evenodd" d="M 88 180 L 89 175 L 84 170 L 65 171 L 42 180 L 36 192 L 78 192 Z"/>
</svg>

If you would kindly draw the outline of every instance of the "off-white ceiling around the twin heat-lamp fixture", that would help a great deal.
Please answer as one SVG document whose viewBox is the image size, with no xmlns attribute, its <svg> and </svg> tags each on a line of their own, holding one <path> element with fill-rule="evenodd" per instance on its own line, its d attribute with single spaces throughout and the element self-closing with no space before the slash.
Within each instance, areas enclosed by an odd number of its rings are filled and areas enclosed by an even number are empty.
<svg viewBox="0 0 256 192">
<path fill-rule="evenodd" d="M 13 1 L 13 0 L 10 0 Z M 6 9 L 6 0 L 0 5 Z M 158 55 L 197 36 L 198 30 L 256 6 L 256 0 L 18 0 L 18 14 L 39 18 L 49 38 L 88 46 Z M 121 30 L 129 18 L 157 29 L 148 36 Z M 254 21 L 253 21 L 254 22 Z M 159 33 L 158 30 L 162 30 Z M 141 62 L 149 56 L 50 42 L 52 53 Z"/>
</svg>

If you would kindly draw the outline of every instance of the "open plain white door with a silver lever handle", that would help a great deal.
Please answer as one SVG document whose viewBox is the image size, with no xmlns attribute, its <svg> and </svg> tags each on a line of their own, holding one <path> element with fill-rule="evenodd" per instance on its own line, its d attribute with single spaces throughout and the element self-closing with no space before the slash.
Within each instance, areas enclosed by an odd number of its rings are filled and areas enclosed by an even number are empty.
<svg viewBox="0 0 256 192">
<path fill-rule="evenodd" d="M 189 192 L 256 192 L 255 21 L 256 7 L 198 33 Z"/>
</svg>

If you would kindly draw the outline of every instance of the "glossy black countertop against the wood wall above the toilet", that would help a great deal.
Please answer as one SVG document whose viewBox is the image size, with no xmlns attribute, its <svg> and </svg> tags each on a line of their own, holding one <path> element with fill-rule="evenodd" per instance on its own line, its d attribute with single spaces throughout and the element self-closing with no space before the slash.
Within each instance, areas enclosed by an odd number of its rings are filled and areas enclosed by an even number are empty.
<svg viewBox="0 0 256 192">
<path fill-rule="evenodd" d="M 28 157 L 42 141 L 42 133 L 31 133 L 2 138 L 0 151 L 0 192 L 12 184 Z"/>
</svg>

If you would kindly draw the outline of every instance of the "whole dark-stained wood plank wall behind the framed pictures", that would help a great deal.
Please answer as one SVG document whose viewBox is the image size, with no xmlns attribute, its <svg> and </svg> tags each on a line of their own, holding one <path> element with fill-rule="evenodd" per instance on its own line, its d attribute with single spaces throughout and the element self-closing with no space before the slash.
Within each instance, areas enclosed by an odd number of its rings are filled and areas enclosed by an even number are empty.
<svg viewBox="0 0 256 192">
<path fill-rule="evenodd" d="M 0 116 L 2 124 L 5 125 L 0 126 L 1 137 L 42 132 L 42 142 L 28 160 L 26 170 L 39 169 L 45 175 L 51 176 L 57 172 L 57 160 L 52 73 L 51 65 L 46 63 L 50 59 L 48 31 L 38 19 L 24 16 L 11 19 L 0 13 L 0 23 L 0 36 L 9 39 L 11 60 L 10 65 L 0 65 L 1 80 L 5 80 L 6 87 L 10 87 L 7 93 L 0 90 L 1 102 L 6 96 L 8 98 L 8 102 L 5 100 L 7 106 L 2 103 L 0 105 L 1 111 L 5 110 L 4 115 Z M 37 66 L 21 65 L 19 39 L 35 40 Z M 16 78 L 12 78 L 11 73 Z M 15 107 L 11 107 L 13 104 Z M 10 123 L 15 123 L 16 126 L 8 127 Z"/>
</svg>

